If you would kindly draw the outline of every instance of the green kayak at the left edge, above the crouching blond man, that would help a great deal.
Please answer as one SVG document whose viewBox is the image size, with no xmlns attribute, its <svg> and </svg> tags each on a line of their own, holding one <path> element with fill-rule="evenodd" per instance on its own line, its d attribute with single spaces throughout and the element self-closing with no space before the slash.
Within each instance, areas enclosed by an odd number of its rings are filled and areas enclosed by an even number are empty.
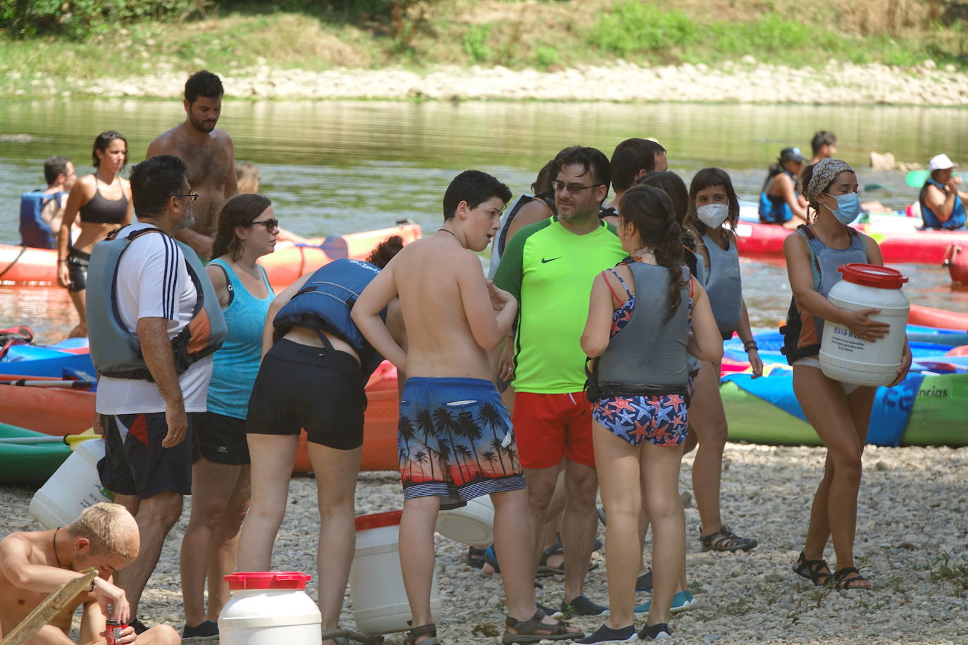
<svg viewBox="0 0 968 645">
<path fill-rule="evenodd" d="M 64 437 L 0 424 L 0 484 L 44 484 L 70 454 Z"/>
</svg>

